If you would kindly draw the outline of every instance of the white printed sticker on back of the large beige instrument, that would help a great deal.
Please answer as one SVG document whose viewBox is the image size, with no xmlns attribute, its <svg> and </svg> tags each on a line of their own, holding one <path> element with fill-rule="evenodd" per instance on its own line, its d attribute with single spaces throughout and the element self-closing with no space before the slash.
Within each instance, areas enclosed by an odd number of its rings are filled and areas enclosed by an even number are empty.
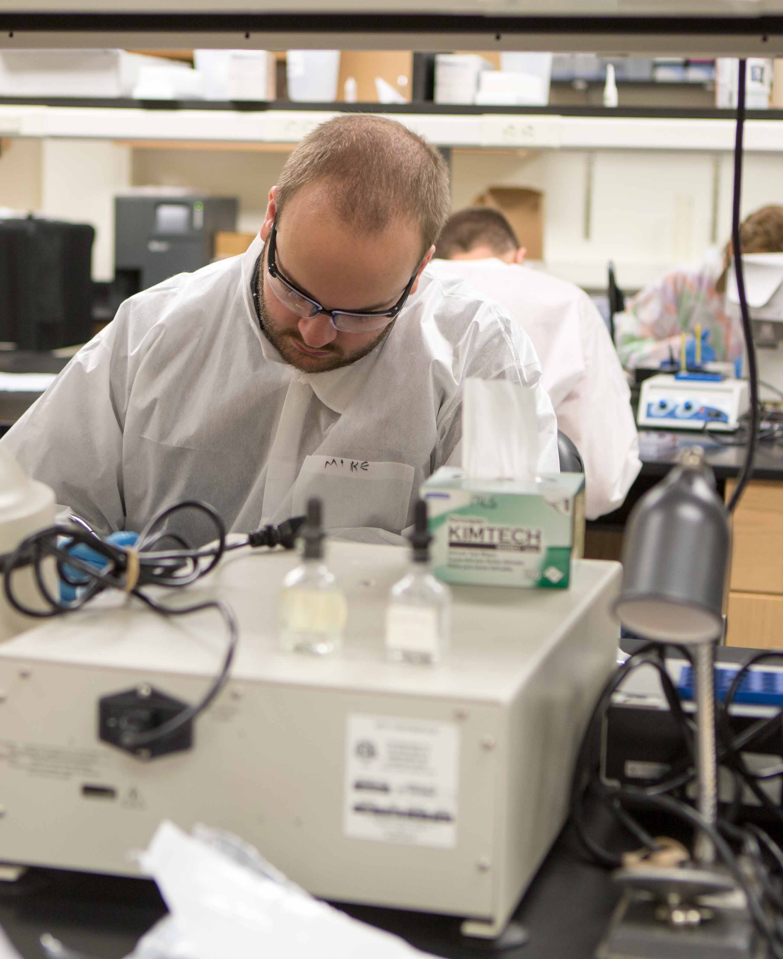
<svg viewBox="0 0 783 959">
<path fill-rule="evenodd" d="M 456 723 L 352 713 L 345 740 L 345 834 L 452 849 L 458 762 Z"/>
</svg>

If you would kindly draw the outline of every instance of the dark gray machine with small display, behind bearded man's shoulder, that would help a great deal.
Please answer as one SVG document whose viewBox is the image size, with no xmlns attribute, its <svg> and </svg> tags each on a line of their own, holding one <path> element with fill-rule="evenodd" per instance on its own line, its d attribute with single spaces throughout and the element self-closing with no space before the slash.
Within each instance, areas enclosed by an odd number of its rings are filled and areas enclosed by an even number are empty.
<svg viewBox="0 0 783 959">
<path fill-rule="evenodd" d="M 114 269 L 120 298 L 205 267 L 215 234 L 236 230 L 236 197 L 149 194 L 115 198 Z"/>
</svg>

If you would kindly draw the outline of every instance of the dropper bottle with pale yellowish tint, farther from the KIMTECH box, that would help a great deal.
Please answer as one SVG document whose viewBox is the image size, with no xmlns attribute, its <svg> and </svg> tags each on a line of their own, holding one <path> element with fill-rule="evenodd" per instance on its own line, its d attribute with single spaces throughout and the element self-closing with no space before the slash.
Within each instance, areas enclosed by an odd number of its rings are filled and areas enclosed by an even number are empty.
<svg viewBox="0 0 783 959">
<path fill-rule="evenodd" d="M 301 536 L 302 562 L 288 573 L 280 591 L 280 644 L 288 652 L 326 656 L 342 648 L 347 604 L 324 562 L 320 500 L 308 501 Z"/>
</svg>

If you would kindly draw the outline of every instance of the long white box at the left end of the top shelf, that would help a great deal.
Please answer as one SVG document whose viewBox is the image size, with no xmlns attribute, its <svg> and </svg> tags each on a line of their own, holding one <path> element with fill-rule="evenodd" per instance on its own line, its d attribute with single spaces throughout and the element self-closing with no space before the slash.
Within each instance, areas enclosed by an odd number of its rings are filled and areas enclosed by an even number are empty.
<svg viewBox="0 0 783 959">
<path fill-rule="evenodd" d="M 2 97 L 129 97 L 143 66 L 171 63 L 125 50 L 4 50 Z"/>
</svg>

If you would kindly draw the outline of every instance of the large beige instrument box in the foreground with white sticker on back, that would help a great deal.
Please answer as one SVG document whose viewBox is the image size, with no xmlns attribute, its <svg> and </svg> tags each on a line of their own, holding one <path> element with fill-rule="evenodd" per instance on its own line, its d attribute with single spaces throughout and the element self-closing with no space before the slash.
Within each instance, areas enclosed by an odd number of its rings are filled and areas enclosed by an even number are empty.
<svg viewBox="0 0 783 959">
<path fill-rule="evenodd" d="M 317 896 L 496 936 L 564 824 L 614 664 L 621 568 L 575 561 L 567 591 L 454 588 L 449 657 L 430 667 L 384 657 L 406 551 L 334 542 L 330 556 L 349 610 L 333 657 L 279 648 L 291 552 L 237 550 L 163 597 L 219 596 L 241 637 L 192 744 L 147 761 L 102 741 L 99 699 L 126 691 L 136 717 L 159 693 L 195 702 L 224 655 L 214 612 L 164 619 L 105 594 L 0 644 L 0 861 L 138 875 L 128 851 L 162 819 L 202 822 Z"/>
</svg>

